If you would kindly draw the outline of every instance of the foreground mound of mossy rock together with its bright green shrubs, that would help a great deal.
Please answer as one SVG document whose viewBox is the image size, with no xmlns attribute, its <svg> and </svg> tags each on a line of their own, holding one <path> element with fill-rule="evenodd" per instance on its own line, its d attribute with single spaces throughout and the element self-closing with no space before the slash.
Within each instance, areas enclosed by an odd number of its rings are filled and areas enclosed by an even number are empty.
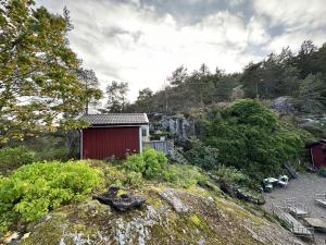
<svg viewBox="0 0 326 245">
<path fill-rule="evenodd" d="M 140 157 L 147 159 L 147 170 L 160 159 L 154 151 Z M 117 166 L 80 161 L 21 167 L 0 182 L 1 229 L 11 230 L 2 240 L 15 231 L 12 244 L 22 245 L 299 242 L 273 217 L 225 196 L 198 168 L 165 166 L 148 175 L 142 168 L 130 169 L 135 162 L 134 157 Z M 140 209 L 116 211 L 91 200 L 91 193 L 104 191 L 101 183 L 121 186 L 118 195 L 134 189 L 147 203 Z"/>
</svg>

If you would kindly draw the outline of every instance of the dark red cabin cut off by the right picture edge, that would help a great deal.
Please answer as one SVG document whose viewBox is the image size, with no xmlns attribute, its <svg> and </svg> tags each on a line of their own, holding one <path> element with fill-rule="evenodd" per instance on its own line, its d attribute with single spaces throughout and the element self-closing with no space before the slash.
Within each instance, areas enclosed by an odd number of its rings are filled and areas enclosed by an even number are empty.
<svg viewBox="0 0 326 245">
<path fill-rule="evenodd" d="M 326 139 L 309 145 L 313 167 L 319 169 L 326 167 Z"/>
</svg>

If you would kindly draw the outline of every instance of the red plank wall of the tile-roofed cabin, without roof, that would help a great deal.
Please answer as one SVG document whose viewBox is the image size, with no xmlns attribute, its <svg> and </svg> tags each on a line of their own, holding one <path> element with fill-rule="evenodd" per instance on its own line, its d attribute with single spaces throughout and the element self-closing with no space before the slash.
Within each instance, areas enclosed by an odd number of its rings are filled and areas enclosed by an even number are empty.
<svg viewBox="0 0 326 245">
<path fill-rule="evenodd" d="M 83 130 L 83 159 L 123 159 L 139 152 L 139 127 L 89 127 Z"/>
</svg>

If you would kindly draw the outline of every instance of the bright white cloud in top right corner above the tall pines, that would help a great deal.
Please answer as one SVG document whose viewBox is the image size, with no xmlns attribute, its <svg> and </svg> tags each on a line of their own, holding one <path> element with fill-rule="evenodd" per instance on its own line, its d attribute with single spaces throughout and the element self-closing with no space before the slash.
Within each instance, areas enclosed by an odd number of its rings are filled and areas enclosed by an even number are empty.
<svg viewBox="0 0 326 245">
<path fill-rule="evenodd" d="M 317 46 L 326 40 L 324 0 L 253 0 L 253 9 L 267 21 L 268 28 L 277 29 L 266 51 L 279 52 L 287 46 L 297 51 L 303 40 L 311 39 Z"/>
</svg>

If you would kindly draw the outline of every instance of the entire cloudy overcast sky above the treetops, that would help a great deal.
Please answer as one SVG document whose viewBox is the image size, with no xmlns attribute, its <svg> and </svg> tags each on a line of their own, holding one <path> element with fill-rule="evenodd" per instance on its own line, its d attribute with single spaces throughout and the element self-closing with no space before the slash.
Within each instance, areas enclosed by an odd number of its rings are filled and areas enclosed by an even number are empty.
<svg viewBox="0 0 326 245">
<path fill-rule="evenodd" d="M 238 72 L 250 61 L 305 39 L 326 42 L 325 0 L 37 0 L 51 12 L 71 11 L 71 46 L 95 70 L 138 90 L 162 88 L 184 64 Z"/>
</svg>

